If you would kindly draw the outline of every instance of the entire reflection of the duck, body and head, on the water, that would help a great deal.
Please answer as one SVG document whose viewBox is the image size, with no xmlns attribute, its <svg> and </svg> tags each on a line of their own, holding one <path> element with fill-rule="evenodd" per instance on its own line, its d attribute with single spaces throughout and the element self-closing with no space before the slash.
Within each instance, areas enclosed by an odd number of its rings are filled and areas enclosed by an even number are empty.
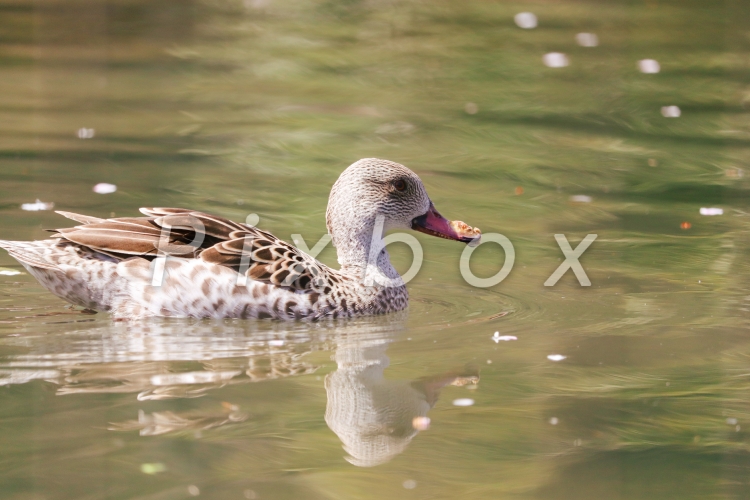
<svg viewBox="0 0 750 500">
<path fill-rule="evenodd" d="M 44 380 L 58 395 L 131 393 L 139 401 L 196 398 L 231 384 L 306 375 L 314 351 L 335 351 L 325 379 L 325 421 L 357 466 L 403 452 L 429 424 L 427 412 L 446 385 L 476 384 L 471 370 L 414 381 L 386 380 L 388 345 L 405 314 L 337 324 L 163 321 L 107 325 L 0 339 L 0 385 Z M 3 347 L 12 354 L 2 355 Z M 24 350 L 19 353 L 19 348 Z M 8 352 L 8 350 L 5 350 Z M 138 411 L 109 428 L 142 436 L 198 432 L 247 420 L 230 403 L 183 412 Z"/>
</svg>

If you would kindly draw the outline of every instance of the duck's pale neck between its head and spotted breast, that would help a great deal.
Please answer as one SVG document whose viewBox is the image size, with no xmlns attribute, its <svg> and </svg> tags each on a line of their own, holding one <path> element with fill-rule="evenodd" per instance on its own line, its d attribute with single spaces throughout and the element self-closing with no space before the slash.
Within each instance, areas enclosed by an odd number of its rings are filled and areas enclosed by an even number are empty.
<svg viewBox="0 0 750 500">
<path fill-rule="evenodd" d="M 401 277 L 391 264 L 383 242 L 382 220 L 368 221 L 359 227 L 349 224 L 331 234 L 336 246 L 341 272 L 368 286 L 399 284 Z"/>
</svg>

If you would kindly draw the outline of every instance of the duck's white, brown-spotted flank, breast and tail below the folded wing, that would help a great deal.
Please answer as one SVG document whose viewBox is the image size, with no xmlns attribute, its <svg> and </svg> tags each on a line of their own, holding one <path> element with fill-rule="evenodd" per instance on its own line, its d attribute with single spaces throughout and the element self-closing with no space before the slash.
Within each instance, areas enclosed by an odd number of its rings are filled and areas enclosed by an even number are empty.
<svg viewBox="0 0 750 500">
<path fill-rule="evenodd" d="M 154 273 L 161 265 L 157 259 L 117 261 L 92 254 L 87 247 L 56 240 L 0 245 L 18 256 L 29 273 L 53 294 L 87 309 L 109 312 L 117 319 L 318 319 L 382 314 L 403 309 L 408 303 L 403 285 L 366 287 L 361 280 L 330 268 L 325 268 L 328 276 L 319 291 L 297 290 L 280 286 L 270 277 L 246 278 L 231 267 L 200 257 L 170 256 L 163 261 L 161 282 L 157 279 L 154 284 Z M 30 255 L 34 263 L 24 260 Z"/>
</svg>

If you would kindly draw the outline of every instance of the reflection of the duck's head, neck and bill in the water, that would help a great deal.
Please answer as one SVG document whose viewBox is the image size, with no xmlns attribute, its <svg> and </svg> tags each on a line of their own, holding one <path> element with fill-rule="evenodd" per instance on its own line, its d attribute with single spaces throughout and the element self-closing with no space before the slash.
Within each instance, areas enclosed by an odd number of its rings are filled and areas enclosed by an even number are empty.
<svg viewBox="0 0 750 500">
<path fill-rule="evenodd" d="M 476 372 L 449 372 L 415 381 L 386 380 L 390 340 L 342 336 L 336 345 L 338 369 L 326 377 L 326 423 L 341 439 L 346 459 L 371 467 L 403 452 L 446 385 L 476 384 Z"/>
</svg>

